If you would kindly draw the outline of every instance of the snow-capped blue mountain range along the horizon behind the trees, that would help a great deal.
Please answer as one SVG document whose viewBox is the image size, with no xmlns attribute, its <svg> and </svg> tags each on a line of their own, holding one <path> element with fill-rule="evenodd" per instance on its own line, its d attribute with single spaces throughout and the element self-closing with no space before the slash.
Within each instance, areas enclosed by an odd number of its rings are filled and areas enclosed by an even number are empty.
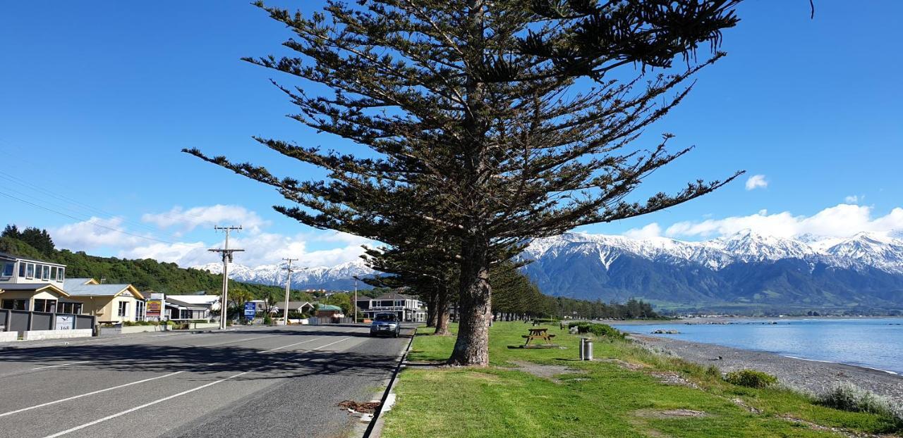
<svg viewBox="0 0 903 438">
<path fill-rule="evenodd" d="M 564 233 L 521 256 L 545 294 L 604 301 L 643 298 L 670 308 L 903 308 L 903 239 L 877 233 L 793 238 L 743 231 L 704 242 Z M 219 263 L 196 269 L 219 273 Z M 373 275 L 362 260 L 297 269 L 296 288 L 349 289 Z M 230 278 L 284 284 L 280 265 L 231 265 Z"/>
</svg>

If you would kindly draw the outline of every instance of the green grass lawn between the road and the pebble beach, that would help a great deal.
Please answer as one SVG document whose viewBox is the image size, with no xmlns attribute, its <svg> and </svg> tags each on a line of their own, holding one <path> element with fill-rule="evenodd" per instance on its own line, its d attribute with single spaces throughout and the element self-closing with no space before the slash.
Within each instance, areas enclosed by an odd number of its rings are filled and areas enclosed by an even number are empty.
<svg viewBox="0 0 903 438">
<path fill-rule="evenodd" d="M 733 386 L 714 370 L 630 342 L 597 339 L 599 361 L 575 360 L 579 338 L 556 326 L 549 331 L 565 350 L 509 349 L 523 343 L 527 327 L 492 327 L 489 368 L 405 369 L 383 436 L 815 437 L 841 436 L 828 427 L 865 433 L 895 428 L 879 416 L 816 406 L 788 390 Z M 444 360 L 453 343 L 453 336 L 418 334 L 409 360 Z M 543 372 L 550 370 L 567 372 Z M 683 384 L 661 383 L 666 378 Z"/>
</svg>

